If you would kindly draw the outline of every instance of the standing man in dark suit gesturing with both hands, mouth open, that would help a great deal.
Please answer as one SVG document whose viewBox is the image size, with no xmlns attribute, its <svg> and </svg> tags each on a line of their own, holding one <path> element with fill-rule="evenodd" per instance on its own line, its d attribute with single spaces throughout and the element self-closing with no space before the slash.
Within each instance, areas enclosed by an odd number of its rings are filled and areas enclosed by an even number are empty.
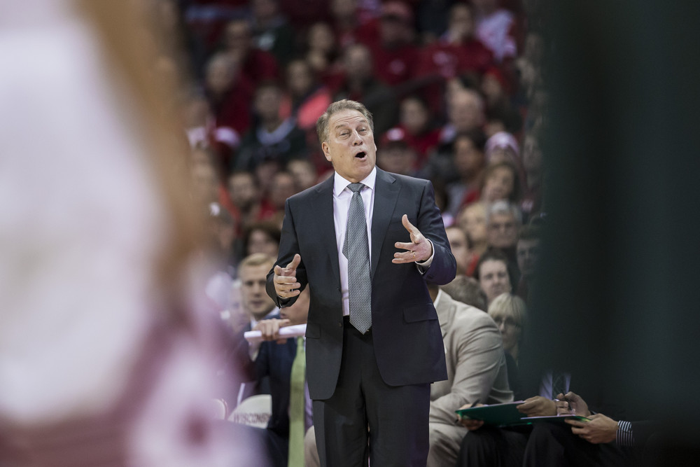
<svg viewBox="0 0 700 467">
<path fill-rule="evenodd" d="M 425 466 L 430 382 L 447 378 L 426 280 L 447 284 L 456 271 L 433 187 L 375 167 L 362 104 L 331 104 L 316 128 L 335 175 L 287 200 L 267 293 L 286 307 L 311 286 L 307 377 L 321 464 Z"/>
</svg>

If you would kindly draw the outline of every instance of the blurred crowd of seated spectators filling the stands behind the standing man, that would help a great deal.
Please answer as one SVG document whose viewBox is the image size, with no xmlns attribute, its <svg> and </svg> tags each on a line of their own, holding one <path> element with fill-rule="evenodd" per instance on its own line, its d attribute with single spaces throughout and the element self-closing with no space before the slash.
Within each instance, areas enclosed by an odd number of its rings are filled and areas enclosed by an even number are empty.
<svg viewBox="0 0 700 467">
<path fill-rule="evenodd" d="M 286 199 L 332 174 L 316 120 L 337 99 L 362 102 L 372 113 L 381 169 L 432 181 L 456 258 L 456 279 L 431 292 L 443 330 L 451 329 L 443 335 L 451 368 L 449 380 L 431 389 L 428 465 L 471 465 L 465 449 L 486 452 L 478 442 L 490 431 L 470 438 L 465 434 L 480 425 L 455 426 L 450 418 L 462 404 L 525 400 L 521 411 L 531 416 L 575 410 L 575 403 L 553 405 L 569 390 L 567 373 L 545 372 L 547 391 L 532 391 L 519 377 L 545 223 L 540 144 L 547 92 L 537 2 L 158 0 L 155 6 L 172 33 L 169 45 L 179 50 L 163 53 L 158 71 L 179 73 L 186 83 L 172 110 L 190 145 L 191 197 L 207 223 L 217 270 L 207 296 L 233 329 L 235 344 L 223 365 L 237 361 L 247 379 L 224 398 L 235 406 L 255 393 L 273 394 L 267 446 L 274 465 L 287 465 L 288 441 L 280 440 L 289 436 L 288 421 L 274 408 L 280 388 L 269 365 L 261 372 L 258 363 L 256 371 L 258 347 L 241 335 L 269 333 L 285 319 L 265 295 L 265 275 L 277 256 Z M 484 323 L 484 316 L 492 321 Z M 493 334 L 500 336 L 496 351 L 487 337 Z M 448 342 L 460 342 L 461 350 L 451 354 Z M 263 344 L 260 351 L 280 350 Z M 556 384 L 560 374 L 567 375 L 564 385 Z M 590 415 L 580 400 L 577 413 Z M 307 465 L 317 465 L 313 428 L 306 452 Z M 478 465 L 498 461 L 491 454 Z"/>
</svg>

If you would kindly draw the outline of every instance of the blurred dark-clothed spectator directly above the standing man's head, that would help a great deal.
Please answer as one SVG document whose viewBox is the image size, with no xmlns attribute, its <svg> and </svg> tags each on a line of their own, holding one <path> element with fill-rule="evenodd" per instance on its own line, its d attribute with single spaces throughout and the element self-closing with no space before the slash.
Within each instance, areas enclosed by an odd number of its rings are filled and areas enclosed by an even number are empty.
<svg viewBox="0 0 700 467">
<path fill-rule="evenodd" d="M 344 79 L 334 100 L 362 102 L 372 113 L 374 134 L 383 134 L 398 118 L 398 103 L 391 88 L 374 77 L 372 53 L 367 46 L 355 44 L 343 54 Z"/>
</svg>

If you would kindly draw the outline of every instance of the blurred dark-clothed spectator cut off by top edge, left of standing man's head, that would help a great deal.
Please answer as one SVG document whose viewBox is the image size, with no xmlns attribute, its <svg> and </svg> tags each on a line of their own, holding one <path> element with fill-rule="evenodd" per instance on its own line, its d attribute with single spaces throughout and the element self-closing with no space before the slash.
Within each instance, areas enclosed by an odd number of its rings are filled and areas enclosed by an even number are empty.
<svg viewBox="0 0 700 467">
<path fill-rule="evenodd" d="M 274 55 L 285 65 L 294 51 L 294 29 L 279 9 L 279 0 L 252 0 L 253 43 L 259 50 Z"/>
</svg>

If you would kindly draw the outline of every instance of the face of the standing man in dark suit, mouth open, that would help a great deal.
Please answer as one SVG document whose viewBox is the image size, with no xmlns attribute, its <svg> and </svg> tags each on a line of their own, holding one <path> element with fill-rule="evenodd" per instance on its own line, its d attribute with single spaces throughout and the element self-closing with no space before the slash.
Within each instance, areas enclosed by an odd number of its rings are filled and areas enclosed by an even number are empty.
<svg viewBox="0 0 700 467">
<path fill-rule="evenodd" d="M 377 162 L 377 145 L 370 123 L 356 110 L 334 113 L 328 119 L 328 142 L 321 148 L 335 172 L 352 183 L 365 179 Z"/>
</svg>

